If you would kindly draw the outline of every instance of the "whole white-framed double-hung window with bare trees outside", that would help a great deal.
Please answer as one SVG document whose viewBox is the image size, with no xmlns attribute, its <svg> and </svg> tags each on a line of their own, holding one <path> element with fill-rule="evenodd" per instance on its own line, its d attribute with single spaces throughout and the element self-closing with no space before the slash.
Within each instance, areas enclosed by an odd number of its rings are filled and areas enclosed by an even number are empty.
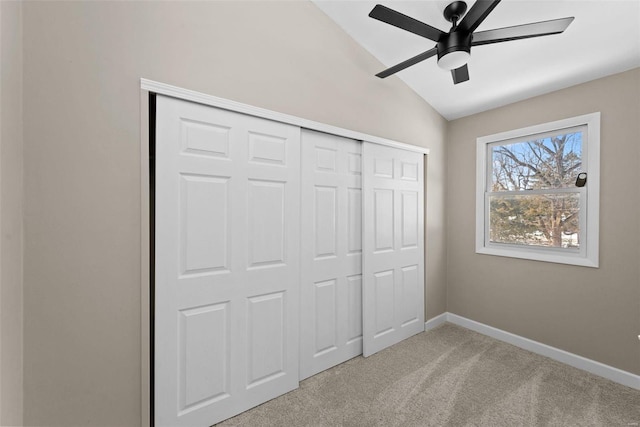
<svg viewBox="0 0 640 427">
<path fill-rule="evenodd" d="M 599 154 L 600 113 L 478 138 L 476 252 L 598 267 Z"/>
</svg>

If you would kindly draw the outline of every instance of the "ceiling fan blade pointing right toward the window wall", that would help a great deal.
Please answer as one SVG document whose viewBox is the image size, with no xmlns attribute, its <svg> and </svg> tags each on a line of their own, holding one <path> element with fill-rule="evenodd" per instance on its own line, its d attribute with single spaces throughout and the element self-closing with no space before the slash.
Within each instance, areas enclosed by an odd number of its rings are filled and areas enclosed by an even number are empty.
<svg viewBox="0 0 640 427">
<path fill-rule="evenodd" d="M 573 22 L 573 17 L 553 19 L 550 21 L 534 22 L 513 27 L 496 28 L 495 30 L 480 31 L 473 34 L 472 46 L 483 44 L 508 42 L 510 40 L 528 39 L 531 37 L 560 34 Z"/>
</svg>

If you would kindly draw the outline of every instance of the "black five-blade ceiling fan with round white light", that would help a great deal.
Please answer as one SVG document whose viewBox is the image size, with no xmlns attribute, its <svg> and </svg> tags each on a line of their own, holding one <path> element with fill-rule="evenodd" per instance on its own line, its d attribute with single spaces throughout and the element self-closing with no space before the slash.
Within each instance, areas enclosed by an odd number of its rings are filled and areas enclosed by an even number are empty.
<svg viewBox="0 0 640 427">
<path fill-rule="evenodd" d="M 438 66 L 451 70 L 454 84 L 466 82 L 469 80 L 467 62 L 471 57 L 472 46 L 559 34 L 567 29 L 574 19 L 553 19 L 474 33 L 498 3 L 500 0 L 477 0 L 466 15 L 467 4 L 464 1 L 450 3 L 443 13 L 445 19 L 452 24 L 448 33 L 381 4 L 376 5 L 369 13 L 370 17 L 437 42 L 434 48 L 394 65 L 376 76 L 383 79 L 438 55 Z M 458 23 L 461 17 L 462 21 Z"/>
</svg>

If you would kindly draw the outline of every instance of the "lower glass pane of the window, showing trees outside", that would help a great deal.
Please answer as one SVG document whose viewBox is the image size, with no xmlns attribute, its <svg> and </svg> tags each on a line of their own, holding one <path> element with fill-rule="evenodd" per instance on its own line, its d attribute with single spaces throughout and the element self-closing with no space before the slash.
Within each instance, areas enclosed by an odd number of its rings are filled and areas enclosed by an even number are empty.
<svg viewBox="0 0 640 427">
<path fill-rule="evenodd" d="M 580 194 L 489 197 L 489 240 L 554 248 L 580 247 Z"/>
</svg>

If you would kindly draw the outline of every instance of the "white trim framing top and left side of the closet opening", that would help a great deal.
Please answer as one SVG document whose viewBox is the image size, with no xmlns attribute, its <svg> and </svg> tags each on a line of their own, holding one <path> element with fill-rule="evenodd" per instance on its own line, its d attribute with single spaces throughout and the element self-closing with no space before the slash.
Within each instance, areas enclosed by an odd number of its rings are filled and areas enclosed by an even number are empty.
<svg viewBox="0 0 640 427">
<path fill-rule="evenodd" d="M 140 424 L 143 427 L 152 425 L 151 413 L 153 408 L 151 394 L 151 370 L 152 370 L 152 352 L 151 352 L 151 328 L 153 327 L 151 315 L 151 203 L 150 203 L 150 174 L 149 167 L 149 149 L 151 132 L 149 129 L 149 118 L 155 112 L 151 111 L 150 95 L 159 94 L 167 95 L 186 101 L 197 102 L 212 107 L 223 108 L 226 110 L 236 111 L 252 116 L 262 117 L 278 122 L 288 123 L 300 126 L 301 128 L 317 130 L 320 132 L 330 133 L 346 138 L 357 139 L 361 141 L 369 141 L 375 144 L 386 145 L 389 147 L 400 148 L 403 150 L 415 151 L 418 153 L 429 154 L 429 149 L 416 145 L 405 144 L 381 138 L 374 135 L 368 135 L 349 129 L 344 129 L 324 123 L 315 122 L 288 114 L 279 113 L 263 108 L 254 107 L 240 102 L 219 98 L 202 92 L 180 88 L 178 86 L 169 85 L 145 78 L 140 79 L 140 398 L 141 398 L 141 416 Z"/>
</svg>

